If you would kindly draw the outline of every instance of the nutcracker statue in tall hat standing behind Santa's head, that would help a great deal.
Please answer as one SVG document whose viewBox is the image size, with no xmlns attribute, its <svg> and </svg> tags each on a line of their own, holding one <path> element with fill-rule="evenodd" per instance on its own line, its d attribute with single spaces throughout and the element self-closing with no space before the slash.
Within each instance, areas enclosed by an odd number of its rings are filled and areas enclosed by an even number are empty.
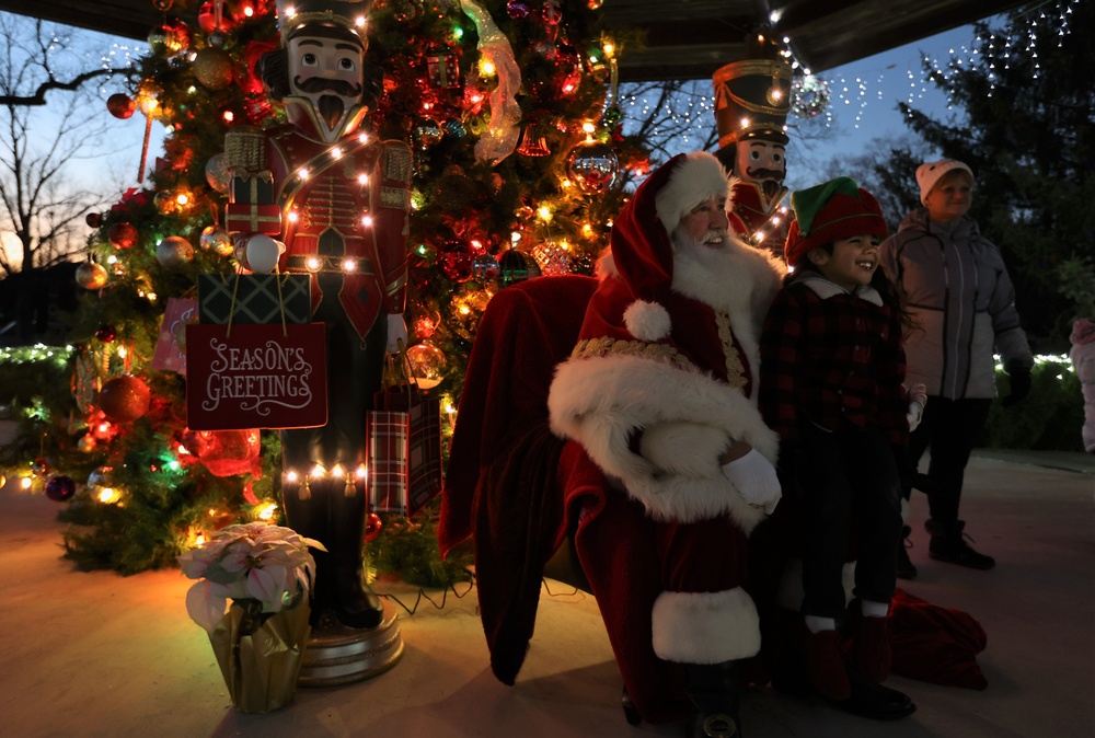
<svg viewBox="0 0 1095 738">
<path fill-rule="evenodd" d="M 747 43 L 749 58 L 714 74 L 715 155 L 734 177 L 730 228 L 757 247 L 783 256 L 787 238 L 786 119 L 792 71 L 764 34 Z"/>
</svg>

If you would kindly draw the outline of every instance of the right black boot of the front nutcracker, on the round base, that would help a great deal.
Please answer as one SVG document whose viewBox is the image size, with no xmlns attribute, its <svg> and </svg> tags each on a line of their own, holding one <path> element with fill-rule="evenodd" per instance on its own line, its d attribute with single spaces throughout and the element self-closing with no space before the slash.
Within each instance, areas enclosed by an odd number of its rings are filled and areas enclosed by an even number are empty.
<svg viewBox="0 0 1095 738">
<path fill-rule="evenodd" d="M 380 625 L 384 606 L 365 581 L 366 498 L 362 484 L 336 481 L 331 489 L 332 544 L 330 560 L 335 590 L 335 616 L 343 625 L 370 629 Z"/>
</svg>

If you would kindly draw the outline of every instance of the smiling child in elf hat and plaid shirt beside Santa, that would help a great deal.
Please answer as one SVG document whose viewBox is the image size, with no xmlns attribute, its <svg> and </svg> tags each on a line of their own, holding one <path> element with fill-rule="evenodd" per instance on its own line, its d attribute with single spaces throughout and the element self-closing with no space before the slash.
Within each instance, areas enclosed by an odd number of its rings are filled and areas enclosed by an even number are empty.
<svg viewBox="0 0 1095 738">
<path fill-rule="evenodd" d="M 871 193 L 839 177 L 794 193 L 791 203 L 785 252 L 793 270 L 764 323 L 759 402 L 780 434 L 780 464 L 792 481 L 784 504 L 803 556 L 807 676 L 821 694 L 845 700 L 845 614 L 853 667 L 874 681 L 890 667 L 897 459 L 909 433 L 902 311 L 878 268 L 887 230 Z M 850 553 L 857 601 L 849 607 L 842 570 Z"/>
</svg>

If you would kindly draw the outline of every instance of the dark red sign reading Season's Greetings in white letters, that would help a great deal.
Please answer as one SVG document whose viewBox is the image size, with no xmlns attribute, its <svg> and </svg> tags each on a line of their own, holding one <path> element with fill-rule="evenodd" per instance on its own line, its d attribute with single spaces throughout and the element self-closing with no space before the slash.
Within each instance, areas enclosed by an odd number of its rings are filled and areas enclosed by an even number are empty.
<svg viewBox="0 0 1095 738">
<path fill-rule="evenodd" d="M 326 423 L 323 323 L 186 326 L 186 424 L 192 430 Z"/>
</svg>

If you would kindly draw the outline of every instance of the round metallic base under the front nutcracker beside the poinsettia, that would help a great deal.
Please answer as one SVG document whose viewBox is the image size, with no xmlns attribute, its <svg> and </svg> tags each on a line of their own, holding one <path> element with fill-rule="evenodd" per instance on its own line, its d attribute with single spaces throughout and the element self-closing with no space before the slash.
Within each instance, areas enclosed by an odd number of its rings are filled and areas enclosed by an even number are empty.
<svg viewBox="0 0 1095 738">
<path fill-rule="evenodd" d="M 338 687 L 377 677 L 403 657 L 399 616 L 384 602 L 384 618 L 369 630 L 346 627 L 324 612 L 312 629 L 300 669 L 299 687 Z"/>
</svg>

